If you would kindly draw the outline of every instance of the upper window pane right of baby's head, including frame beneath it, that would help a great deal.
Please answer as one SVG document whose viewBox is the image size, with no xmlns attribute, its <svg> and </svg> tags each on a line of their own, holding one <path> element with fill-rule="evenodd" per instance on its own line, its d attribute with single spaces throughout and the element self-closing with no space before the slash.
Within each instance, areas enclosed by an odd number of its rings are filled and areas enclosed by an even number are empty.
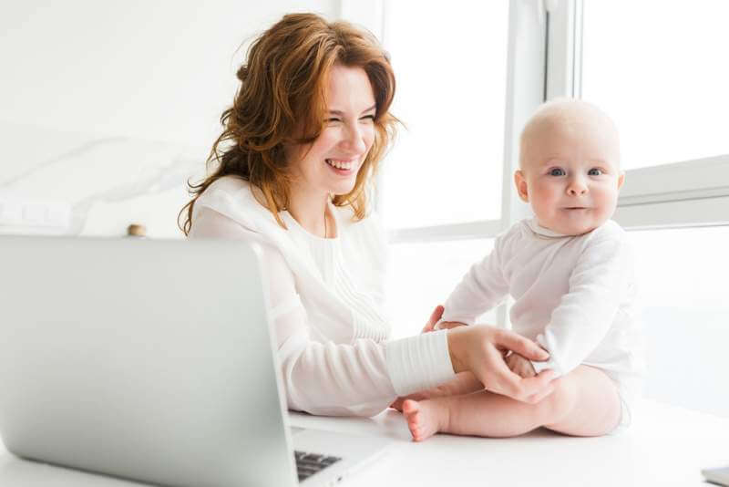
<svg viewBox="0 0 729 487">
<path fill-rule="evenodd" d="M 729 222 L 728 15 L 722 0 L 584 3 L 579 88 L 621 131 L 623 226 Z"/>
</svg>

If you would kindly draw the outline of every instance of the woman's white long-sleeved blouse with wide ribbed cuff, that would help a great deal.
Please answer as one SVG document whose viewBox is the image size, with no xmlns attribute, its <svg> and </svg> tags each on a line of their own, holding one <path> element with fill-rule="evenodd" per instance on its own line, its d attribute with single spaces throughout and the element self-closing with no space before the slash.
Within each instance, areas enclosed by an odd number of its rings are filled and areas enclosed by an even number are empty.
<svg viewBox="0 0 729 487">
<path fill-rule="evenodd" d="M 248 182 L 228 176 L 195 203 L 190 238 L 262 245 L 290 409 L 371 416 L 455 374 L 445 332 L 386 341 L 384 233 L 373 216 L 354 223 L 351 209 L 330 212 L 336 238 L 308 233 L 289 212 L 280 213 L 283 229 Z"/>
</svg>

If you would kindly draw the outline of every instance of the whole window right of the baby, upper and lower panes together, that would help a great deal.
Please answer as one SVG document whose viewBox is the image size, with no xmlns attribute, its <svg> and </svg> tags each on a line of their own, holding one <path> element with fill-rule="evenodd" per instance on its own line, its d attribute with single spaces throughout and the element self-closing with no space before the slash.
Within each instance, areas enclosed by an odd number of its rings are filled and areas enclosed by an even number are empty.
<svg viewBox="0 0 729 487">
<path fill-rule="evenodd" d="M 727 15 L 720 0 L 584 2 L 576 64 L 582 97 L 607 109 L 621 131 L 627 171 L 615 219 L 650 229 L 631 233 L 646 396 L 729 416 L 718 387 L 729 380 L 719 358 L 729 338 L 720 291 L 729 274 L 729 67 L 719 61 Z"/>
</svg>

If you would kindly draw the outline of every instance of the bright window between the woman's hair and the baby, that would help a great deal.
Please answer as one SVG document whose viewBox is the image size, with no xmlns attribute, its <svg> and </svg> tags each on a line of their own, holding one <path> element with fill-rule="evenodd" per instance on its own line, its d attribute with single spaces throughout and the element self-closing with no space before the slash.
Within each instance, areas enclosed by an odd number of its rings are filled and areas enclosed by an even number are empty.
<svg viewBox="0 0 729 487">
<path fill-rule="evenodd" d="M 504 197 L 509 5 L 417 4 L 416 22 L 414 6 L 385 0 L 383 9 L 393 112 L 404 123 L 378 202 L 392 237 L 394 337 L 419 332 L 490 252 Z M 497 322 L 493 312 L 482 319 Z"/>
</svg>

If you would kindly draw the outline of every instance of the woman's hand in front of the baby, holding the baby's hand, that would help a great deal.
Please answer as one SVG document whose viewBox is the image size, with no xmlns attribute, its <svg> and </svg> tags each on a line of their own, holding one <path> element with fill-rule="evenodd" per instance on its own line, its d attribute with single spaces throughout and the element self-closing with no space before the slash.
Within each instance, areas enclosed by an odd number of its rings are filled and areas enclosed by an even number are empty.
<svg viewBox="0 0 729 487">
<path fill-rule="evenodd" d="M 491 392 L 536 403 L 554 389 L 550 384 L 555 376 L 552 370 L 532 378 L 520 378 L 508 369 L 504 361 L 508 350 L 529 360 L 549 359 L 549 353 L 528 338 L 488 325 L 458 326 L 449 329 L 447 337 L 453 370 L 456 373 L 470 370 Z"/>
</svg>

